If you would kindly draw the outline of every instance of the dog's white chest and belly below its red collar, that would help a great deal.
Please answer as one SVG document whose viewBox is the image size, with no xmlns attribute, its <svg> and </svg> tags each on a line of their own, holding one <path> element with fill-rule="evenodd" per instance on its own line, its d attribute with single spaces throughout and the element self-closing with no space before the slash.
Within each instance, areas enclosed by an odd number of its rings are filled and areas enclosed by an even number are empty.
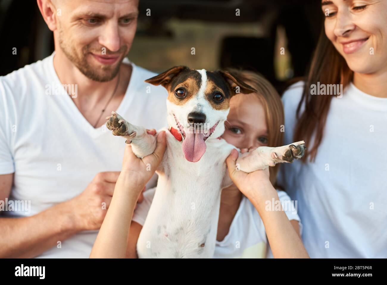
<svg viewBox="0 0 387 285">
<path fill-rule="evenodd" d="M 193 163 L 185 160 L 181 143 L 168 139 L 165 171 L 137 242 L 140 258 L 212 257 L 226 145 L 208 143 L 205 155 Z"/>
</svg>

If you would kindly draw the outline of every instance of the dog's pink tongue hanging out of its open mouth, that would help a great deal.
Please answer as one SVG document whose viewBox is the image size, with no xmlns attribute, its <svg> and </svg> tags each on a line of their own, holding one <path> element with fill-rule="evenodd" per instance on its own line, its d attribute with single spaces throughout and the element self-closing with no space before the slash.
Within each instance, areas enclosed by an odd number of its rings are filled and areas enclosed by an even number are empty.
<svg viewBox="0 0 387 285">
<path fill-rule="evenodd" d="M 207 146 L 205 145 L 203 137 L 203 132 L 200 132 L 199 134 L 187 132 L 185 134 L 183 153 L 186 160 L 196 162 L 204 155 Z"/>
</svg>

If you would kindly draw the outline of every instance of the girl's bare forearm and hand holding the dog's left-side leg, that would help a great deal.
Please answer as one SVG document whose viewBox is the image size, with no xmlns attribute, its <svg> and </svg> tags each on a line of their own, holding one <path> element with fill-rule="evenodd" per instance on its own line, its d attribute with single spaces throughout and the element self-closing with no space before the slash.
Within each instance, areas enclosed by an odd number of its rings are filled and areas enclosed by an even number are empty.
<svg viewBox="0 0 387 285">
<path fill-rule="evenodd" d="M 153 136 L 156 135 L 155 130 L 147 130 L 147 132 Z M 91 258 L 125 258 L 136 202 L 142 189 L 161 163 L 165 149 L 165 131 L 158 134 L 154 152 L 143 158 L 135 156 L 130 144 L 127 144 L 111 207 L 99 230 L 90 254 Z"/>
</svg>

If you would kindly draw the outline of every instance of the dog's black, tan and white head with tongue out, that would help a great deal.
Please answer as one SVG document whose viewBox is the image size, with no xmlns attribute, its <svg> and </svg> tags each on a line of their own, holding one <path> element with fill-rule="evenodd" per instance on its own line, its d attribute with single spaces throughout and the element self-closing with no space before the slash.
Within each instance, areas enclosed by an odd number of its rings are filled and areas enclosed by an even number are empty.
<svg viewBox="0 0 387 285">
<path fill-rule="evenodd" d="M 223 134 L 231 97 L 256 92 L 227 71 L 186 66 L 172 67 L 145 82 L 167 89 L 168 124 L 182 134 L 184 156 L 192 162 L 204 155 L 210 136 L 214 139 Z"/>
</svg>

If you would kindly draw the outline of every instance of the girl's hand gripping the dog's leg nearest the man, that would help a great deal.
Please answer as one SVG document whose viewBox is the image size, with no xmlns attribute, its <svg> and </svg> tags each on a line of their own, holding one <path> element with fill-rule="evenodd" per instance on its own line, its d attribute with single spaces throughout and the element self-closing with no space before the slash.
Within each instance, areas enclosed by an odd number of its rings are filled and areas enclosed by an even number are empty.
<svg viewBox="0 0 387 285">
<path fill-rule="evenodd" d="M 156 130 L 147 130 L 148 134 L 156 135 Z M 127 144 L 122 162 L 121 175 L 129 179 L 129 184 L 141 191 L 158 168 L 166 148 L 165 131 L 157 136 L 157 145 L 154 152 L 144 158 L 138 158 L 132 151 L 132 146 Z"/>
</svg>

